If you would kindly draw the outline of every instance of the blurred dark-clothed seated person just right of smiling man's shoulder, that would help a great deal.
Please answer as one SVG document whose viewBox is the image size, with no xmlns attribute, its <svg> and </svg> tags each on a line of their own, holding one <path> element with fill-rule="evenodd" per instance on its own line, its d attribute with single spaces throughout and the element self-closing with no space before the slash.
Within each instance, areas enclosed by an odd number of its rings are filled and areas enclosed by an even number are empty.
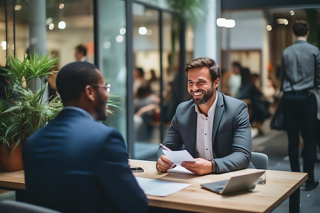
<svg viewBox="0 0 320 213">
<path fill-rule="evenodd" d="M 262 92 L 255 85 L 253 76 L 248 68 L 241 70 L 241 87 L 236 98 L 250 100 L 252 106 L 250 123 L 258 128 L 260 134 L 263 134 L 261 125 L 265 119 L 270 117 L 270 102 L 263 100 Z"/>
</svg>

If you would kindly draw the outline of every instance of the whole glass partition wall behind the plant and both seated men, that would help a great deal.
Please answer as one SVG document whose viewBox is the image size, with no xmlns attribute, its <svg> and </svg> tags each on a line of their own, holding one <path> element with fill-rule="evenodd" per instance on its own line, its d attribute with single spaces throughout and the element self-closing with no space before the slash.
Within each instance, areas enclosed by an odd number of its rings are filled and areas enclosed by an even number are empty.
<svg viewBox="0 0 320 213">
<path fill-rule="evenodd" d="M 109 100 L 121 108 L 110 107 L 114 115 L 109 114 L 105 124 L 120 130 L 131 157 L 155 155 L 175 107 L 184 97 L 178 89 L 183 81 L 180 64 L 185 60 L 185 53 L 180 53 L 180 26 L 174 22 L 178 16 L 166 9 L 165 1 L 45 1 L 42 8 L 34 9 L 37 1 L 42 0 L 1 1 L 0 38 L 8 45 L 0 50 L 0 65 L 5 65 L 7 51 L 23 58 L 41 37 L 46 52 L 59 57 L 59 70 L 76 60 L 75 47 L 83 44 L 87 61 L 96 63 L 112 85 Z M 45 33 L 32 39 L 35 20 L 28 19 L 31 12 L 45 14 Z M 147 114 L 138 113 L 145 103 L 134 106 L 138 102 L 134 95 L 135 67 L 143 68 L 155 99 Z M 48 82 L 54 93 L 55 76 Z"/>
</svg>

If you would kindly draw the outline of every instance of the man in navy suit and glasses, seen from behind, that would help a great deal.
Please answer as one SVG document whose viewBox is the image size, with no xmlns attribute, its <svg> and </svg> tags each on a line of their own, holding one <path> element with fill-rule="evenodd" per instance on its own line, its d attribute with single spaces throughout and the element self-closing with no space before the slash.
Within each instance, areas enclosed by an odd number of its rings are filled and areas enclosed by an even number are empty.
<svg viewBox="0 0 320 213">
<path fill-rule="evenodd" d="M 88 62 L 57 76 L 64 108 L 29 137 L 22 157 L 28 202 L 61 212 L 147 212 L 120 132 L 106 119 L 110 85 Z"/>
</svg>

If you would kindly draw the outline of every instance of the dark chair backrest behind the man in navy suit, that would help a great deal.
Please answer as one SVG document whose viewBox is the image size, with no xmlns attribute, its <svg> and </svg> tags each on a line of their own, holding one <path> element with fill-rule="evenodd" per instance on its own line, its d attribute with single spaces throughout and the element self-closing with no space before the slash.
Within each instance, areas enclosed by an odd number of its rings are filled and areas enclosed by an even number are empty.
<svg viewBox="0 0 320 213">
<path fill-rule="evenodd" d="M 33 205 L 30 203 L 24 203 L 13 200 L 2 200 L 0 201 L 0 212 L 1 213 L 61 213 L 50 208 Z"/>
</svg>

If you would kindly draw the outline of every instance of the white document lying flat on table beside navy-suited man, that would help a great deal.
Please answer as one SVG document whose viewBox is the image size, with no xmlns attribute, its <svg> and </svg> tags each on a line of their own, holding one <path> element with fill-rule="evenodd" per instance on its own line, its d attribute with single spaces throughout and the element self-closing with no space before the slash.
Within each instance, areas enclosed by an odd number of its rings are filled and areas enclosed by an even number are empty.
<svg viewBox="0 0 320 213">
<path fill-rule="evenodd" d="M 146 195 L 161 197 L 173 194 L 191 185 L 142 177 L 135 177 L 135 179 Z"/>
</svg>

